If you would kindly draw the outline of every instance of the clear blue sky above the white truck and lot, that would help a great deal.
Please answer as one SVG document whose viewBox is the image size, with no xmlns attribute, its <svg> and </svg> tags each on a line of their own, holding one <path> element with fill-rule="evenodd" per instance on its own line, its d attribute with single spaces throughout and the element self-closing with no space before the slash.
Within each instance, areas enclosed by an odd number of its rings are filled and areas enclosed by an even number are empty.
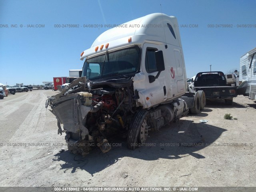
<svg viewBox="0 0 256 192">
<path fill-rule="evenodd" d="M 81 52 L 109 29 L 105 24 L 161 8 L 178 19 L 187 77 L 210 65 L 226 73 L 256 47 L 255 7 L 256 0 L 0 0 L 0 83 L 38 85 L 69 76 L 82 69 Z M 65 24 L 79 28 L 57 27 Z"/>
</svg>

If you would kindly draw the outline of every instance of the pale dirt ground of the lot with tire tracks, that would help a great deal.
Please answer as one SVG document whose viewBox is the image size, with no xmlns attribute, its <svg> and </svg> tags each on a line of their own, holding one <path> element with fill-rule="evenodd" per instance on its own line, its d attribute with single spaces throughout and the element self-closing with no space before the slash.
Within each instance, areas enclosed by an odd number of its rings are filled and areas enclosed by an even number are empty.
<svg viewBox="0 0 256 192">
<path fill-rule="evenodd" d="M 208 102 L 200 114 L 151 132 L 134 151 L 118 138 L 108 153 L 96 147 L 82 157 L 67 150 L 46 111 L 54 94 L 0 100 L 0 186 L 256 186 L 256 104 L 248 97 L 232 106 Z M 225 120 L 226 113 L 238 119 Z"/>
</svg>

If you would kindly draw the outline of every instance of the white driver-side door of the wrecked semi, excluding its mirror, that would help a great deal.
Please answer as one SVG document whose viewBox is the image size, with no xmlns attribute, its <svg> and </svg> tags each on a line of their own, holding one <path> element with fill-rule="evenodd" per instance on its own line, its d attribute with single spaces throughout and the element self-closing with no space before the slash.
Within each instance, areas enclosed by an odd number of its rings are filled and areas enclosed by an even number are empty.
<svg viewBox="0 0 256 192">
<path fill-rule="evenodd" d="M 149 98 L 152 105 L 164 102 L 167 98 L 166 95 L 166 82 L 164 77 L 164 72 L 160 73 L 160 76 L 154 81 L 149 81 L 148 76 L 156 76 L 158 73 L 156 71 L 156 61 L 155 61 L 155 51 L 163 50 L 164 45 L 156 45 L 145 43 L 143 45 L 142 52 L 142 71 L 145 74 L 145 97 Z"/>
</svg>

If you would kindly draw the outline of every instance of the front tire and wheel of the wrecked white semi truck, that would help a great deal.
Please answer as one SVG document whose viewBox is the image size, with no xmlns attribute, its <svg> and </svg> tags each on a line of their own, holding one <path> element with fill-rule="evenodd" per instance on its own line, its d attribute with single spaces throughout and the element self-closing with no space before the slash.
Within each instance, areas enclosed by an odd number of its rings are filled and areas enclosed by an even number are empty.
<svg viewBox="0 0 256 192">
<path fill-rule="evenodd" d="M 148 111 L 145 109 L 139 110 L 135 115 L 130 124 L 127 147 L 128 149 L 134 150 L 140 144 L 146 141 L 148 136 Z"/>
</svg>

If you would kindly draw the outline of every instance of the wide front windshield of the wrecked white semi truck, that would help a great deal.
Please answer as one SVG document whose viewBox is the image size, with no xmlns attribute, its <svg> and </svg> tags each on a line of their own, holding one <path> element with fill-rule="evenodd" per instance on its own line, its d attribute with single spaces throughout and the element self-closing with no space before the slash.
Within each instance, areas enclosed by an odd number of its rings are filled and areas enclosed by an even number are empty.
<svg viewBox="0 0 256 192">
<path fill-rule="evenodd" d="M 116 75 L 135 74 L 139 70 L 140 48 L 138 46 L 106 53 L 86 59 L 82 77 L 89 80 Z"/>
</svg>

